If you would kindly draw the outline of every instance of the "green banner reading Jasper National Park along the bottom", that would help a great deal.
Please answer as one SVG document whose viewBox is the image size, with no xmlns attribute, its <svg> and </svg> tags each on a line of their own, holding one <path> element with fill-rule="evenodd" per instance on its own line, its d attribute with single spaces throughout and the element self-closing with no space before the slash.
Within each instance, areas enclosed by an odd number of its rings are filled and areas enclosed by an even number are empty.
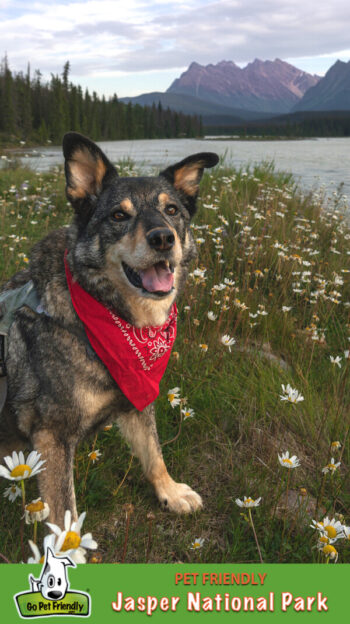
<svg viewBox="0 0 350 624">
<path fill-rule="evenodd" d="M 166 624 L 232 616 L 259 621 L 267 615 L 276 622 L 281 617 L 334 622 L 349 612 L 348 565 L 79 565 L 69 570 L 69 591 L 60 601 L 30 592 L 28 576 L 40 572 L 39 565 L 0 566 L 2 621 L 19 622 L 21 613 L 51 624 L 55 617 L 67 623 L 85 617 L 96 624 L 149 619 Z"/>
</svg>

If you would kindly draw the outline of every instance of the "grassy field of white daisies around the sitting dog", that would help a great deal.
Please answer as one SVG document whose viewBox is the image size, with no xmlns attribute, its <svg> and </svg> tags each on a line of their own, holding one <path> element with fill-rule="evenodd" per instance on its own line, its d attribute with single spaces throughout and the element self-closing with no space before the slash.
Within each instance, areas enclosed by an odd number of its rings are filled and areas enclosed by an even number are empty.
<svg viewBox="0 0 350 624">
<path fill-rule="evenodd" d="M 119 169 L 135 174 L 130 163 Z M 1 170 L 0 282 L 70 218 L 60 170 Z M 343 198 L 305 194 L 271 164 L 235 171 L 221 163 L 201 183 L 193 234 L 198 260 L 178 302 L 156 415 L 171 476 L 200 493 L 204 509 L 161 511 L 113 426 L 78 449 L 78 523 L 66 514 L 65 527 L 47 527 L 35 476 L 6 476 L 25 457 L 3 464 L 3 558 L 39 561 L 51 530 L 53 548 L 74 554 L 80 545 L 80 559 L 94 562 L 350 562 Z M 26 521 L 24 488 L 27 507 L 33 501 Z M 80 536 L 83 521 L 92 535 Z"/>
</svg>

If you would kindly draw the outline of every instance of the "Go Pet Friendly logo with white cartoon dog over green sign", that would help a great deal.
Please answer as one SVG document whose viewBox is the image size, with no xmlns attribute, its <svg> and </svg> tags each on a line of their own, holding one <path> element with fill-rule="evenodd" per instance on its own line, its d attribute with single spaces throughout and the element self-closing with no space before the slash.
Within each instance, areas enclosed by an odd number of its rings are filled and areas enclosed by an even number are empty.
<svg viewBox="0 0 350 624">
<path fill-rule="evenodd" d="M 68 591 L 67 568 L 76 567 L 69 557 L 56 557 L 47 547 L 39 579 L 32 574 L 28 580 L 31 589 L 14 596 L 17 611 L 22 618 L 48 617 L 50 615 L 77 615 L 88 617 L 91 609 L 89 594 Z"/>
</svg>

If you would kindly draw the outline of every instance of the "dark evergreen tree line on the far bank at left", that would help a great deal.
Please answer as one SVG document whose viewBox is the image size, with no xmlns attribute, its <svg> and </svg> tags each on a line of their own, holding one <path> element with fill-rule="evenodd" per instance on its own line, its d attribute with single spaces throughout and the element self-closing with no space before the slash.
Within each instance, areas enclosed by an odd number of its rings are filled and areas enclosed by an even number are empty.
<svg viewBox="0 0 350 624">
<path fill-rule="evenodd" d="M 200 117 L 153 106 L 124 104 L 116 94 L 106 99 L 69 81 L 70 63 L 62 74 L 43 81 L 40 70 L 14 73 L 7 57 L 0 64 L 0 141 L 60 143 L 69 130 L 95 141 L 190 138 L 202 136 Z"/>
</svg>

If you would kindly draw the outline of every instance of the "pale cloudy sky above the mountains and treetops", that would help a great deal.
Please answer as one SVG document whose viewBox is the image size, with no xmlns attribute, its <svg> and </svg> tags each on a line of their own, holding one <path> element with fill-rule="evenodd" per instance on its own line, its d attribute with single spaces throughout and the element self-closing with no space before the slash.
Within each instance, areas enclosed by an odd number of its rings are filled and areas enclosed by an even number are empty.
<svg viewBox="0 0 350 624">
<path fill-rule="evenodd" d="M 107 97 L 165 91 L 201 65 L 280 58 L 324 75 L 350 60 L 349 0 L 0 0 L 12 71 L 70 80 Z"/>
</svg>

